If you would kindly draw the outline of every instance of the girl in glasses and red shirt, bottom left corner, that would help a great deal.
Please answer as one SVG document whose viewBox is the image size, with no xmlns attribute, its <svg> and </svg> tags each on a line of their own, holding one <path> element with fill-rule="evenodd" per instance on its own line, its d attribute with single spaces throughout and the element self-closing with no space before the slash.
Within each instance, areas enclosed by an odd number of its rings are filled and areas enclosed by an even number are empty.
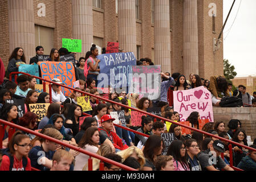
<svg viewBox="0 0 256 182">
<path fill-rule="evenodd" d="M 27 157 L 31 148 L 30 139 L 21 131 L 16 131 L 4 150 L 0 171 L 31 171 L 30 158 Z"/>
</svg>

